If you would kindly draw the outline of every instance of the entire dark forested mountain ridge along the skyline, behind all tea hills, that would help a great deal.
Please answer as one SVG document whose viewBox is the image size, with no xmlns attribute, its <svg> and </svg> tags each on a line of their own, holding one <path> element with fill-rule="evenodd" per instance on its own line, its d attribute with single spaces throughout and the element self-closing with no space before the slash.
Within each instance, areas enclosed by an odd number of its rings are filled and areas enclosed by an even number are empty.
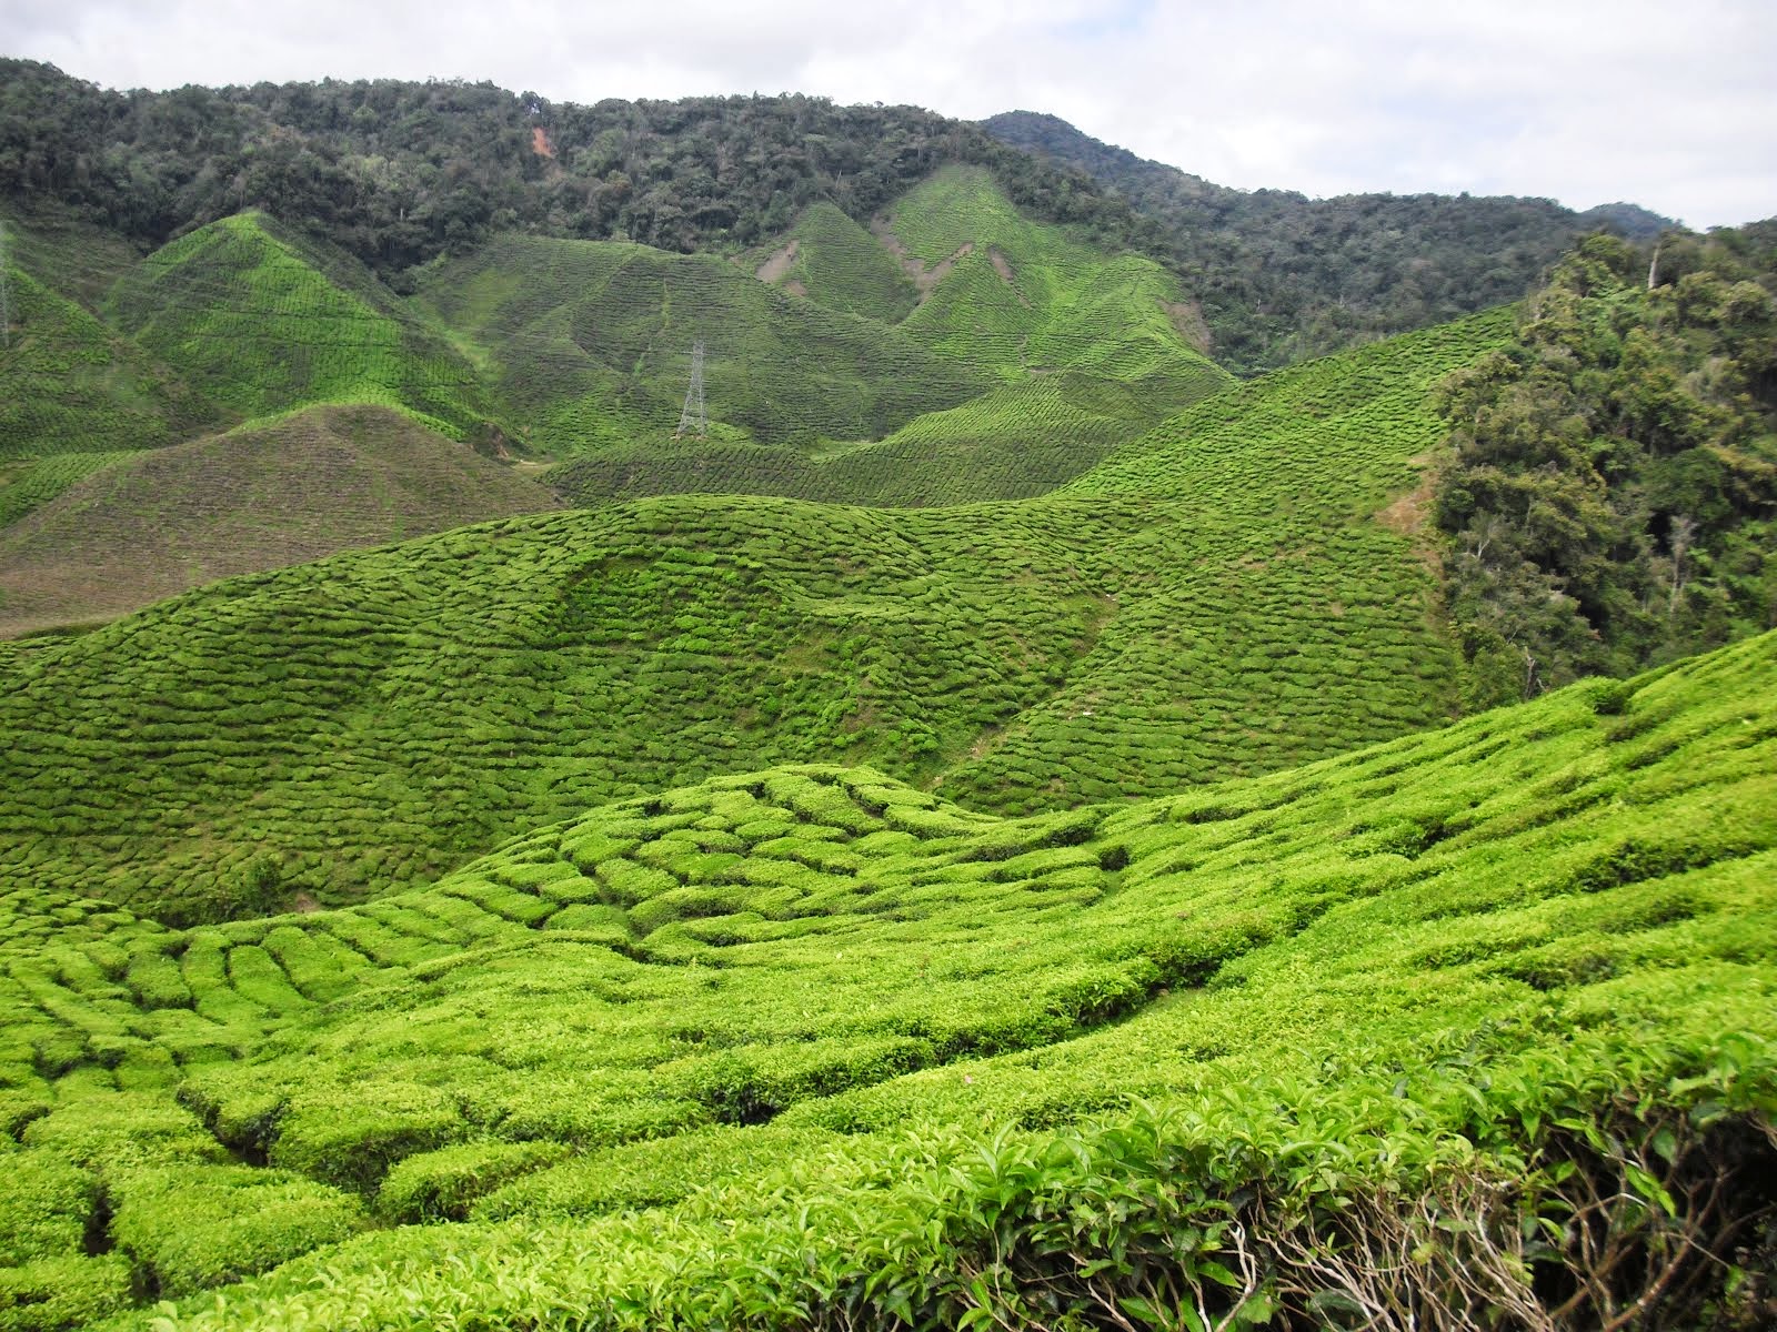
<svg viewBox="0 0 1777 1332">
<path fill-rule="evenodd" d="M 112 92 L 0 60 L 0 197 L 55 197 L 142 247 L 263 208 L 386 279 L 505 231 L 746 250 L 821 201 L 869 222 L 944 163 L 986 167 L 1038 220 L 1171 266 L 1240 373 L 1516 300 L 1576 234 L 1665 222 L 1626 204 L 1247 194 L 1025 112 L 574 105 L 398 80 Z"/>
</svg>

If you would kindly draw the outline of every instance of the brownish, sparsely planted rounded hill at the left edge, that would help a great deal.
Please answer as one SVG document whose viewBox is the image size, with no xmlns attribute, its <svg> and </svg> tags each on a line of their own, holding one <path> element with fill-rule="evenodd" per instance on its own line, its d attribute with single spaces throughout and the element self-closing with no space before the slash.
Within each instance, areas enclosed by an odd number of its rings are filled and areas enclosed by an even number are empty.
<svg viewBox="0 0 1777 1332">
<path fill-rule="evenodd" d="M 535 481 L 386 407 L 318 407 L 151 453 L 78 456 L 116 465 L 0 527 L 0 638 L 558 506 Z"/>
</svg>

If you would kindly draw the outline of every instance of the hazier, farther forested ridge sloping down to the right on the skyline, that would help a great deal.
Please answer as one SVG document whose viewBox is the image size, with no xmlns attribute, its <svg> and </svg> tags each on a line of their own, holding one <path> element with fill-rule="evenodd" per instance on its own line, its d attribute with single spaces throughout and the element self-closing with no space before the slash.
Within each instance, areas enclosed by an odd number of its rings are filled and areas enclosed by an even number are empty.
<svg viewBox="0 0 1777 1332">
<path fill-rule="evenodd" d="M 1635 204 L 1574 213 L 1550 199 L 1233 190 L 1056 115 L 1006 112 L 983 126 L 1088 172 L 1159 222 L 1175 263 L 1201 284 L 1217 357 L 1235 369 L 1269 369 L 1502 305 L 1583 233 L 1653 240 L 1672 226 Z"/>
</svg>

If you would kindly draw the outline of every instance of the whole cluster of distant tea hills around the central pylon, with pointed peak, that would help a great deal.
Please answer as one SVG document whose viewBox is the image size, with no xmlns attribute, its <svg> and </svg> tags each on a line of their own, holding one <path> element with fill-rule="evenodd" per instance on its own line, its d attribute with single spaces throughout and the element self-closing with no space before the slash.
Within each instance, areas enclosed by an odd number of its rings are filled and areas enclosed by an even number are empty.
<svg viewBox="0 0 1777 1332">
<path fill-rule="evenodd" d="M 556 481 L 588 504 L 1020 499 L 1230 384 L 1173 327 L 1173 277 L 1025 218 L 960 169 L 903 197 L 880 236 L 830 204 L 737 266 L 514 236 L 421 291 L 485 348 L 528 440 L 572 456 Z M 672 440 L 698 339 L 713 439 Z"/>
</svg>

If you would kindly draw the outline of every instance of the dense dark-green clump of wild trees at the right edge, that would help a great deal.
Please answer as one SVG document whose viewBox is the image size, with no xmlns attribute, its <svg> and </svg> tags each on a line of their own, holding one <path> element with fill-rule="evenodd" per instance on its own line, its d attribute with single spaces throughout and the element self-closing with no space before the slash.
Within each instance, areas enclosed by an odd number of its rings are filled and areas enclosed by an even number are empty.
<svg viewBox="0 0 1777 1332">
<path fill-rule="evenodd" d="M 1441 391 L 1436 494 L 1468 698 L 1528 698 L 1777 625 L 1777 266 L 1752 233 L 1594 236 Z M 1663 279 L 1663 281 L 1658 281 Z"/>
</svg>

